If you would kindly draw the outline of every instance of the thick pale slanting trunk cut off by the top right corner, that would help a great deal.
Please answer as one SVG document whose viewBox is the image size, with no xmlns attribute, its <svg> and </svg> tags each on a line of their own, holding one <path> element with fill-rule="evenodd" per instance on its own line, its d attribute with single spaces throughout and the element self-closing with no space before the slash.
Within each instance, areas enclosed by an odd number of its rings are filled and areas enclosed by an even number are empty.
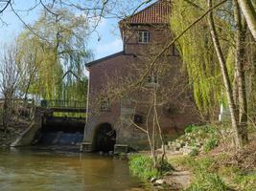
<svg viewBox="0 0 256 191">
<path fill-rule="evenodd" d="M 256 11 L 250 0 L 238 0 L 239 6 L 243 11 L 248 28 L 256 40 Z"/>
</svg>

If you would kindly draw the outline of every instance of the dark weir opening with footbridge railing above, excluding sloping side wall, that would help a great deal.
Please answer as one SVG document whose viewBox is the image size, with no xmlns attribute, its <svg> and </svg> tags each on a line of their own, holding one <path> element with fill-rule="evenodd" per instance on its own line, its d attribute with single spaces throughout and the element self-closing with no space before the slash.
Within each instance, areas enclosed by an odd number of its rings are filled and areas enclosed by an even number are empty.
<svg viewBox="0 0 256 191">
<path fill-rule="evenodd" d="M 83 139 L 85 126 L 86 103 L 70 100 L 42 100 L 41 107 L 47 108 L 50 115 L 43 115 L 40 131 L 35 136 L 35 142 L 39 145 L 77 145 Z M 57 117 L 57 114 L 61 117 Z"/>
</svg>

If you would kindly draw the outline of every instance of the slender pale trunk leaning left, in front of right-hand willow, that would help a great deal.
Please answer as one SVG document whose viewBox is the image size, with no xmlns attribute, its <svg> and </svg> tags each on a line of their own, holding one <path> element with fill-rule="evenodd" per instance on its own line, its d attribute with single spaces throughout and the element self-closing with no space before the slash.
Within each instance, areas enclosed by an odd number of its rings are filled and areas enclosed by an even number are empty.
<svg viewBox="0 0 256 191">
<path fill-rule="evenodd" d="M 208 0 L 208 7 L 209 8 L 212 7 L 212 0 Z M 234 138 L 235 145 L 237 148 L 242 148 L 243 143 L 242 143 L 242 138 L 238 131 L 239 130 L 238 129 L 238 120 L 237 120 L 237 115 L 236 115 L 236 107 L 235 107 L 234 97 L 232 95 L 231 82 L 230 82 L 230 79 L 228 76 L 226 63 L 224 61 L 224 56 L 221 51 L 221 44 L 219 41 L 219 37 L 217 35 L 212 11 L 209 13 L 208 22 L 209 22 L 209 27 L 210 27 L 214 47 L 215 47 L 215 50 L 216 50 L 216 53 L 217 53 L 217 56 L 218 56 L 218 59 L 219 59 L 220 65 L 221 65 L 221 74 L 223 77 L 225 92 L 226 92 L 230 116 L 231 116 L 231 125 L 232 125 L 233 132 L 235 134 L 235 138 Z"/>
</svg>

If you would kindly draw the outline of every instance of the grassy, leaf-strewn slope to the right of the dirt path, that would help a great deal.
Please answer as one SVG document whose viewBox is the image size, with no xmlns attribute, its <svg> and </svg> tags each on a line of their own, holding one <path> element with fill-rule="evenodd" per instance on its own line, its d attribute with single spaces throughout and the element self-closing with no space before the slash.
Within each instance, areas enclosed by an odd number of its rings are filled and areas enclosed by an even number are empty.
<svg viewBox="0 0 256 191">
<path fill-rule="evenodd" d="M 191 172 L 186 190 L 256 190 L 256 140 L 243 151 L 235 152 L 223 145 L 198 157 L 169 159 L 175 168 Z"/>
</svg>

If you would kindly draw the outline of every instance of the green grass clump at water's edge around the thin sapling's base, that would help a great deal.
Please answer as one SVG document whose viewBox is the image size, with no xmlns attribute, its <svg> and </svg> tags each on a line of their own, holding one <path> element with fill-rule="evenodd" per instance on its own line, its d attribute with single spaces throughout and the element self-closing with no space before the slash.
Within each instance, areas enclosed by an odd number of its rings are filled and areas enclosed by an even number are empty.
<svg viewBox="0 0 256 191">
<path fill-rule="evenodd" d="M 142 155 L 130 156 L 128 163 L 131 173 L 142 180 L 160 178 L 163 173 L 172 170 L 172 166 L 166 160 L 160 165 L 160 159 L 158 159 L 157 167 L 154 168 L 152 159 Z"/>
</svg>

